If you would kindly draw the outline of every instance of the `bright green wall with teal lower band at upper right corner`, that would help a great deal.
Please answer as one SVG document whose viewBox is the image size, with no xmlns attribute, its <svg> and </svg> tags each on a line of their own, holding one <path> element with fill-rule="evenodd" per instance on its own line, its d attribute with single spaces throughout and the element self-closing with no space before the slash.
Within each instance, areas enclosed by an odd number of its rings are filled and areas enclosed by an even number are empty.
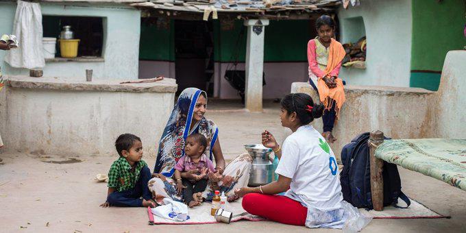
<svg viewBox="0 0 466 233">
<path fill-rule="evenodd" d="M 437 90 L 445 55 L 463 49 L 466 2 L 413 0 L 410 86 Z"/>
</svg>

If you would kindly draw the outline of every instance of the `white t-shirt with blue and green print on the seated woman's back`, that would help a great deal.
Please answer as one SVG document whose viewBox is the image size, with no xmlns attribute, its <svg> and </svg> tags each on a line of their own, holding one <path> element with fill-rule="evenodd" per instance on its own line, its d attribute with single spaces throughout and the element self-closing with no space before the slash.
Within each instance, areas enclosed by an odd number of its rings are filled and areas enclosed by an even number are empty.
<svg viewBox="0 0 466 233">
<path fill-rule="evenodd" d="M 314 127 L 303 125 L 286 138 L 275 172 L 292 179 L 286 196 L 308 207 L 308 227 L 341 227 L 343 219 L 334 216 L 343 214 L 338 166 L 332 149 Z M 316 210 L 333 220 L 313 219 Z"/>
</svg>

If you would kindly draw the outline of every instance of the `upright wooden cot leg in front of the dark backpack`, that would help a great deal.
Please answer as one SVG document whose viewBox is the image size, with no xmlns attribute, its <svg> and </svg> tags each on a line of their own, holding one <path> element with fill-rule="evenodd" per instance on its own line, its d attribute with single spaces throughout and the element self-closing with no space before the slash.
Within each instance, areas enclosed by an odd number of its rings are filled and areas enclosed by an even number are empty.
<svg viewBox="0 0 466 233">
<path fill-rule="evenodd" d="M 383 160 L 376 158 L 377 147 L 384 142 L 384 133 L 380 130 L 371 132 L 369 136 L 369 157 L 371 161 L 371 193 L 373 210 L 384 208 L 384 179 L 382 177 Z"/>
</svg>

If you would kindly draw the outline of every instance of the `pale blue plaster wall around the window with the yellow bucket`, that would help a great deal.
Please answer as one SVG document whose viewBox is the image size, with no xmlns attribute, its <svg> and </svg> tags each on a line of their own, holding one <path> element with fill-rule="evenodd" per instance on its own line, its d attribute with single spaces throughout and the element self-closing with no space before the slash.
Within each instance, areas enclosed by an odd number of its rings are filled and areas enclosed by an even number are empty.
<svg viewBox="0 0 466 233">
<path fill-rule="evenodd" d="M 138 78 L 140 11 L 124 5 L 95 4 L 64 5 L 41 3 L 42 15 L 104 17 L 103 58 L 105 62 L 47 62 L 45 76 L 86 78 L 86 69 L 93 69 L 93 78 Z M 0 3 L 0 34 L 12 32 L 16 3 Z M 21 43 L 21 42 L 20 42 Z M 21 45 L 21 44 L 20 44 Z M 15 69 L 4 62 L 0 51 L 0 66 L 4 74 L 29 75 L 27 69 Z"/>
</svg>

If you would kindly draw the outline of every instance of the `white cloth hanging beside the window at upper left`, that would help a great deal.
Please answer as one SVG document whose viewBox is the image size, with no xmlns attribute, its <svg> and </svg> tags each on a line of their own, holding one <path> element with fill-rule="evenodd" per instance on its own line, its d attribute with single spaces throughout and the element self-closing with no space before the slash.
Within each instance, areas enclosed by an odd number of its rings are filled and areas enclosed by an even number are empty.
<svg viewBox="0 0 466 233">
<path fill-rule="evenodd" d="M 18 1 L 12 34 L 18 38 L 20 46 L 8 51 L 5 62 L 16 68 L 44 67 L 42 12 L 39 3 Z"/>
</svg>

